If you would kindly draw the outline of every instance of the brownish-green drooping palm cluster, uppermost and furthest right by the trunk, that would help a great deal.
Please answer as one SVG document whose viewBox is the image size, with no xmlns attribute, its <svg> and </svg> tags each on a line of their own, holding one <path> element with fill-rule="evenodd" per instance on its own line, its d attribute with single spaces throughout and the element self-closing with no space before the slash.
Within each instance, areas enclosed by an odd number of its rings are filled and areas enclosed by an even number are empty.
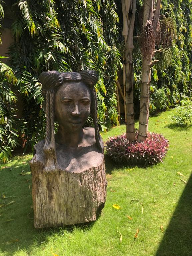
<svg viewBox="0 0 192 256">
<path fill-rule="evenodd" d="M 161 40 L 163 48 L 170 47 L 174 39 L 177 38 L 176 23 L 171 17 L 163 17 L 160 20 L 161 26 Z"/>
</svg>

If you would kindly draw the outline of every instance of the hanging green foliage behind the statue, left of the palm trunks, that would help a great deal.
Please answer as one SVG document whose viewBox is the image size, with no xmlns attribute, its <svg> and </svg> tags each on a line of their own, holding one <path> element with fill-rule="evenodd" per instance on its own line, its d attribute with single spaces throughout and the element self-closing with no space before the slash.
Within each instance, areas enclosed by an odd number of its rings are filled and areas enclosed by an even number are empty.
<svg viewBox="0 0 192 256">
<path fill-rule="evenodd" d="M 45 113 L 41 107 L 43 98 L 38 79 L 42 71 L 93 69 L 98 72 L 96 91 L 100 128 L 106 130 L 117 124 L 116 79 L 121 62 L 115 3 L 112 0 L 17 0 L 7 8 L 11 8 L 16 20 L 12 24 L 14 43 L 9 50 L 12 69 L 5 70 L 8 68 L 5 65 L 2 72 L 7 82 L 15 79 L 13 84 L 23 108 L 22 119 L 9 114 L 10 120 L 16 122 L 19 134 L 23 135 L 25 148 L 33 147 L 45 134 Z M 13 73 L 15 76 L 11 78 Z M 1 82 L 5 82 L 4 79 Z M 12 108 L 15 113 L 15 106 Z M 8 115 L 6 111 L 4 115 Z M 91 119 L 89 124 L 92 124 Z"/>
</svg>

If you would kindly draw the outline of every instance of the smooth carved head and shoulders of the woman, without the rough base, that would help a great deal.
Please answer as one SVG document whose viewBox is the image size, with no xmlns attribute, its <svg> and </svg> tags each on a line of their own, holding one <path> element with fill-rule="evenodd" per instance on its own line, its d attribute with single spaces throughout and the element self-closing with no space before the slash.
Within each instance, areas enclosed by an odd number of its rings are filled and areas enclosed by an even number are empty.
<svg viewBox="0 0 192 256">
<path fill-rule="evenodd" d="M 61 167 L 69 172 L 82 172 L 99 163 L 104 146 L 97 120 L 97 79 L 95 71 L 49 71 L 40 75 L 47 128 L 45 141 L 36 144 L 35 151 L 41 155 L 47 171 Z M 94 128 L 82 128 L 89 115 Z M 56 135 L 54 121 L 58 122 Z"/>
</svg>

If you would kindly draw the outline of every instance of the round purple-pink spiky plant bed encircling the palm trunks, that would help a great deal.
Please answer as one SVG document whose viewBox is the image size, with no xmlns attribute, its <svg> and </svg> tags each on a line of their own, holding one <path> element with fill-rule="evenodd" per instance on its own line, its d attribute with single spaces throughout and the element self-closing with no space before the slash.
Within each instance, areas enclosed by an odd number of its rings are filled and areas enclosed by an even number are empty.
<svg viewBox="0 0 192 256">
<path fill-rule="evenodd" d="M 136 139 L 138 134 L 136 133 Z M 149 165 L 162 162 L 168 150 L 168 140 L 161 134 L 147 133 L 145 142 L 128 141 L 126 135 L 110 137 L 106 142 L 107 155 L 115 162 Z"/>
</svg>

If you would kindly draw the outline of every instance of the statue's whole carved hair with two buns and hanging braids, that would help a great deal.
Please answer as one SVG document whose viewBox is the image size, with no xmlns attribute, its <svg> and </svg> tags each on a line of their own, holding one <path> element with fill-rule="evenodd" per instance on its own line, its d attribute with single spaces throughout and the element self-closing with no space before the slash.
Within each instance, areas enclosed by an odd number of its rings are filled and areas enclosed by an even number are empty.
<svg viewBox="0 0 192 256">
<path fill-rule="evenodd" d="M 53 151 L 55 154 L 56 162 L 56 153 L 55 153 L 55 136 L 54 136 L 54 120 L 55 120 L 55 111 L 54 111 L 54 99 L 55 94 L 59 87 L 64 82 L 83 82 L 91 92 L 91 109 L 90 116 L 93 119 L 94 129 L 95 129 L 95 140 L 97 148 L 103 152 L 103 142 L 101 140 L 101 135 L 99 132 L 98 118 L 97 118 L 97 96 L 94 85 L 97 83 L 98 75 L 93 70 L 84 70 L 80 73 L 77 72 L 63 72 L 58 71 L 48 71 L 42 72 L 39 80 L 42 84 L 42 95 L 45 100 L 43 107 L 46 112 L 46 136 L 44 151 L 50 152 Z M 46 104 L 45 104 L 46 103 Z M 48 160 L 48 159 L 47 159 Z"/>
</svg>

